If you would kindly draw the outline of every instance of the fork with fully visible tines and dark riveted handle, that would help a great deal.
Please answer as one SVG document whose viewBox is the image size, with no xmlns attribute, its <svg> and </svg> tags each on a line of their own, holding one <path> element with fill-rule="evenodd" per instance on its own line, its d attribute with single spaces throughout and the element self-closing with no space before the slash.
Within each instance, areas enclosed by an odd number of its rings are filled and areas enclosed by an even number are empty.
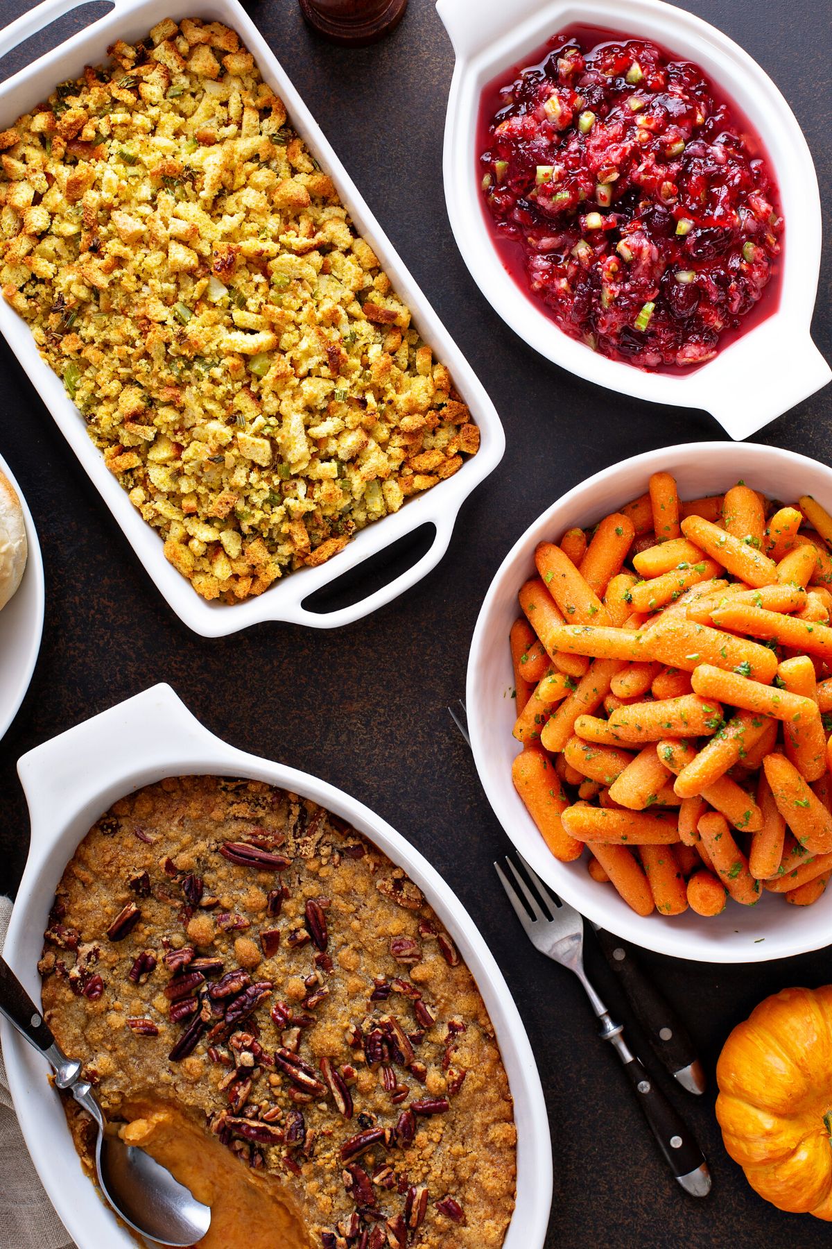
<svg viewBox="0 0 832 1249">
<path fill-rule="evenodd" d="M 593 1004 L 593 1010 L 601 1023 L 601 1038 L 610 1042 L 621 1059 L 639 1104 L 674 1178 L 691 1197 L 707 1197 L 711 1190 L 711 1173 L 707 1169 L 705 1155 L 696 1143 L 696 1138 L 661 1089 L 654 1084 L 650 1074 L 636 1055 L 630 1050 L 624 1039 L 621 1024 L 612 1022 L 609 1010 L 586 977 L 586 972 L 584 970 L 583 916 L 568 903 L 555 899 L 525 859 L 520 858 L 519 854 L 518 859 L 523 864 L 529 881 L 534 884 L 540 899 L 535 898 L 513 859 L 506 857 L 505 863 L 516 881 L 528 909 L 520 901 L 516 889 L 509 882 L 500 864 L 495 863 L 494 867 L 518 919 L 525 928 L 526 937 L 535 949 L 545 954 L 546 958 L 551 958 L 563 967 L 569 968 L 581 982 Z"/>
</svg>

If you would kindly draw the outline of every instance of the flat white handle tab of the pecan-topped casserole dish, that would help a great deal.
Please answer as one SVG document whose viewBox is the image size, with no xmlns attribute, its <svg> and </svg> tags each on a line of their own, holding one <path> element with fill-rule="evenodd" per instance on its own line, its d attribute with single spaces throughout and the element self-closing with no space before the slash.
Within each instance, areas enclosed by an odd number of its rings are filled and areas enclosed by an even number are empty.
<svg viewBox="0 0 832 1249">
<path fill-rule="evenodd" d="M 44 837 L 51 839 L 56 823 L 95 803 L 110 773 L 115 779 L 126 761 L 138 758 L 148 774 L 158 774 L 160 767 L 190 751 L 206 763 L 228 758 L 228 747 L 167 684 L 152 686 L 36 746 L 17 761 L 32 848 Z"/>
</svg>

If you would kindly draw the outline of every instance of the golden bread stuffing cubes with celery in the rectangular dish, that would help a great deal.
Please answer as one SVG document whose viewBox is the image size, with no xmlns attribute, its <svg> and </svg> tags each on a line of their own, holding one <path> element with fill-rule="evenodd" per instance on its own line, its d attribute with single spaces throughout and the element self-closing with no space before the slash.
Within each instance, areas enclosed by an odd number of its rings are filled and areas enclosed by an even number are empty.
<svg viewBox="0 0 832 1249">
<path fill-rule="evenodd" d="M 0 284 L 170 562 L 233 602 L 479 430 L 238 36 L 109 51 L 0 134 Z"/>
</svg>

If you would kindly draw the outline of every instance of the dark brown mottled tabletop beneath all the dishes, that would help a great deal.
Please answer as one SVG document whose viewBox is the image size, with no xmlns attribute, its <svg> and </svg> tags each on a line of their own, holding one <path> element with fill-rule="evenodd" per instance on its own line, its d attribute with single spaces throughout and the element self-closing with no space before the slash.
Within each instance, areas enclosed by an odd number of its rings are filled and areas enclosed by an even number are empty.
<svg viewBox="0 0 832 1249">
<path fill-rule="evenodd" d="M 29 5 L 5 0 L 0 7 L 10 20 Z M 706 1148 L 711 1197 L 687 1199 L 669 1178 L 617 1059 L 595 1040 L 579 984 L 519 934 L 490 867 L 504 837 L 445 711 L 464 692 L 468 644 L 489 581 L 535 516 L 627 455 L 723 435 L 704 412 L 616 397 L 548 365 L 481 299 L 445 216 L 442 134 L 453 57 L 429 0 L 410 0 L 387 42 L 358 51 L 313 36 L 294 0 L 247 7 L 479 372 L 503 417 L 508 450 L 463 508 L 439 568 L 403 598 L 338 632 L 267 624 L 207 642 L 167 610 L 2 343 L 0 451 L 35 516 L 47 608 L 31 688 L 0 743 L 0 884 L 14 891 L 26 856 L 17 757 L 168 681 L 235 746 L 314 772 L 390 821 L 469 908 L 515 994 L 543 1077 L 555 1170 L 548 1247 L 826 1244 L 823 1224 L 781 1214 L 751 1192 L 722 1148 L 713 1092 L 697 1102 L 674 1089 Z M 825 5 L 697 0 L 691 7 L 743 44 L 775 77 L 806 131 L 823 192 L 832 185 L 832 44 L 828 21 L 821 20 Z M 64 35 L 74 21 L 62 20 Z M 35 54 L 46 46 L 44 36 L 29 44 Z M 15 52 L 0 62 L 0 72 L 24 62 Z M 815 341 L 827 358 L 831 271 L 827 250 L 815 316 Z M 758 441 L 830 462 L 832 390 L 768 426 Z M 738 463 L 741 455 L 738 448 Z M 686 1018 L 711 1084 L 721 1043 L 762 997 L 832 978 L 826 952 L 752 968 L 649 954 L 642 962 Z M 630 1025 L 605 965 L 597 982 L 614 1014 Z"/>
</svg>

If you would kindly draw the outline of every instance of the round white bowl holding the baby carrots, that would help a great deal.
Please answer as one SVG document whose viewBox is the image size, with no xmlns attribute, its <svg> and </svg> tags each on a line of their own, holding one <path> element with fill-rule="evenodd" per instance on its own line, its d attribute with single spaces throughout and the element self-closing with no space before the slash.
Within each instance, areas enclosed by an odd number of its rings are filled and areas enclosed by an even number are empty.
<svg viewBox="0 0 832 1249">
<path fill-rule="evenodd" d="M 820 949 L 832 942 L 832 892 L 813 907 L 790 907 L 765 893 L 753 907 L 728 902 L 721 916 L 704 919 L 692 911 L 674 918 L 637 916 L 610 886 L 591 879 L 584 859 L 560 863 L 546 848 L 511 783 L 511 761 L 520 743 L 511 736 L 514 683 L 509 631 L 520 616 L 518 591 L 535 575 L 538 542 L 558 542 L 573 526 L 594 525 L 647 490 L 651 473 L 666 470 L 681 498 L 720 493 L 742 478 L 786 502 L 815 495 L 832 508 L 832 470 L 806 456 L 748 443 L 692 442 L 624 460 L 575 486 L 553 503 L 511 547 L 500 565 L 476 620 L 468 661 L 468 728 L 476 769 L 506 834 L 565 902 L 610 932 L 645 949 L 704 963 L 761 963 Z"/>
</svg>

